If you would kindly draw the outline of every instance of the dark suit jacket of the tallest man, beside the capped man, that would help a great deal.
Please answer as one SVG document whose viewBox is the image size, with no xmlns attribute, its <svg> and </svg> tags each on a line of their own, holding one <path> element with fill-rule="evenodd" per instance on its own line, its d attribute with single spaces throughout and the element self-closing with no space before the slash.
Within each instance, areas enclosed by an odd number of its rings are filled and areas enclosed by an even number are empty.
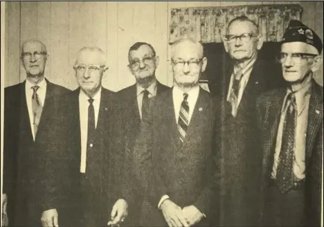
<svg viewBox="0 0 324 227">
<path fill-rule="evenodd" d="M 260 56 L 253 65 L 237 116 L 231 115 L 227 102 L 228 87 L 233 73 L 233 62 L 226 67 L 218 89 L 222 95 L 222 137 L 217 143 L 222 152 L 222 226 L 256 226 L 260 204 L 256 196 L 260 179 L 260 154 L 255 120 L 255 100 L 261 93 L 285 84 L 280 68 Z"/>
</svg>

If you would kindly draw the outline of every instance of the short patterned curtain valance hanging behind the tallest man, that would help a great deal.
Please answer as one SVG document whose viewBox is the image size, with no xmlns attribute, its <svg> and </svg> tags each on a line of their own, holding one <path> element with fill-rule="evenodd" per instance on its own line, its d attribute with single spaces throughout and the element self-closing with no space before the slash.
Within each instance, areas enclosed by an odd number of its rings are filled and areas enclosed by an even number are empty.
<svg viewBox="0 0 324 227">
<path fill-rule="evenodd" d="M 245 15 L 259 25 L 265 41 L 280 41 L 291 19 L 300 19 L 299 5 L 172 8 L 169 43 L 190 37 L 202 43 L 222 42 L 229 21 Z"/>
</svg>

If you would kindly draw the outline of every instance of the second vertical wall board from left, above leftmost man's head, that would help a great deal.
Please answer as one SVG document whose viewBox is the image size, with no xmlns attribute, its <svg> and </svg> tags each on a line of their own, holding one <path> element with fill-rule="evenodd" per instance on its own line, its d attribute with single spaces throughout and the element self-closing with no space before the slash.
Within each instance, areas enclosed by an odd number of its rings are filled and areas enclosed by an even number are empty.
<svg viewBox="0 0 324 227">
<path fill-rule="evenodd" d="M 20 44 L 37 38 L 37 1 L 20 2 Z M 24 66 L 20 64 L 20 82 L 26 79 Z"/>
</svg>

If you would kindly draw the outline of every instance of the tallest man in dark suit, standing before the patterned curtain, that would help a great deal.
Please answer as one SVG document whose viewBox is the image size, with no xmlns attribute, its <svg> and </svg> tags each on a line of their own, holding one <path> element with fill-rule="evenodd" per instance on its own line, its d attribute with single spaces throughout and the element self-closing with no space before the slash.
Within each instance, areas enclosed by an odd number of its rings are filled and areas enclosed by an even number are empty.
<svg viewBox="0 0 324 227">
<path fill-rule="evenodd" d="M 280 66 L 275 59 L 258 54 L 263 45 L 258 25 L 245 16 L 230 21 L 224 47 L 232 61 L 226 62 L 222 93 L 222 226 L 255 226 L 259 220 L 257 179 L 261 157 L 255 131 L 255 99 L 282 86 Z M 222 87 L 221 87 L 222 86 Z"/>
</svg>

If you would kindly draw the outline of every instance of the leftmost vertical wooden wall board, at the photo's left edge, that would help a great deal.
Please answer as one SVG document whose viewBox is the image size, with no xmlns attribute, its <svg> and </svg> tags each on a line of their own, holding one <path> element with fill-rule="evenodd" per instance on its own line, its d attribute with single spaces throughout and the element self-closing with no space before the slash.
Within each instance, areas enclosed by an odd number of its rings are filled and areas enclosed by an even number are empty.
<svg viewBox="0 0 324 227">
<path fill-rule="evenodd" d="M 6 55 L 4 86 L 20 82 L 20 2 L 6 1 Z"/>
</svg>

